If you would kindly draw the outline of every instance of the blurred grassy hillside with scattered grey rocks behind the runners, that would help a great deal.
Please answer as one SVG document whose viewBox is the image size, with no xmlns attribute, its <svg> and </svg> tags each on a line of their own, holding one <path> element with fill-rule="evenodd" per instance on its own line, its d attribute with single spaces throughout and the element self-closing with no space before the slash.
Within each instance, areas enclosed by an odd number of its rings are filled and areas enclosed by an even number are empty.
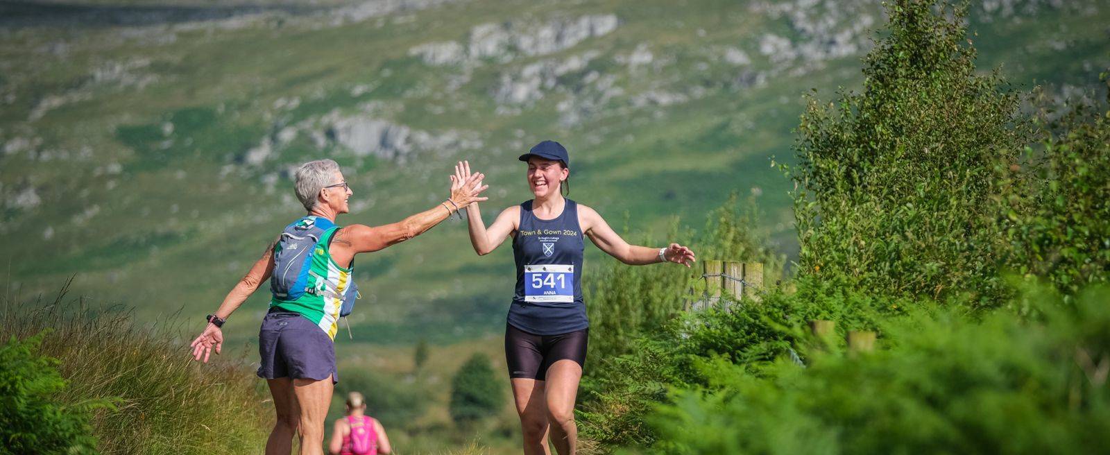
<svg viewBox="0 0 1110 455">
<path fill-rule="evenodd" d="M 572 198 L 613 224 L 698 226 L 750 192 L 790 251 L 769 158 L 790 160 L 801 93 L 858 83 L 881 21 L 871 2 L 810 3 L 4 3 L 0 264 L 11 292 L 77 274 L 74 291 L 140 317 L 200 315 L 299 215 L 291 166 L 339 161 L 355 192 L 341 222 L 376 224 L 441 200 L 470 159 L 492 218 L 528 195 L 515 156 L 548 138 L 572 152 Z M 972 11 L 982 62 L 1083 90 L 1107 65 L 1110 8 L 1039 3 Z M 360 259 L 356 341 L 501 327 L 511 253 L 478 259 L 464 231 Z M 229 333 L 250 337 L 264 301 Z"/>
</svg>

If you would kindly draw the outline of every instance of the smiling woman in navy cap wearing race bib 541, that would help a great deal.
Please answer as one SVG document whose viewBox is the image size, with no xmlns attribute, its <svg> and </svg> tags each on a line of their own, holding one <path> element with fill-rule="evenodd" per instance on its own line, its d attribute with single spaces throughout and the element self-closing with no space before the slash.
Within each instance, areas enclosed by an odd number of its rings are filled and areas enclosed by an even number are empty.
<svg viewBox="0 0 1110 455">
<path fill-rule="evenodd" d="M 505 209 L 490 228 L 482 222 L 478 204 L 467 206 L 471 243 L 485 255 L 513 237 L 516 290 L 505 326 L 505 360 L 524 453 L 547 454 L 549 429 L 555 449 L 574 454 L 574 402 L 589 327 L 582 299 L 583 237 L 629 265 L 674 262 L 688 267 L 694 252 L 677 243 L 629 245 L 594 209 L 564 198 L 559 190 L 567 189 L 571 159 L 558 142 L 541 142 L 519 160 L 528 163 L 533 199 Z M 473 182 L 470 164 L 458 163 L 451 180 Z"/>
</svg>

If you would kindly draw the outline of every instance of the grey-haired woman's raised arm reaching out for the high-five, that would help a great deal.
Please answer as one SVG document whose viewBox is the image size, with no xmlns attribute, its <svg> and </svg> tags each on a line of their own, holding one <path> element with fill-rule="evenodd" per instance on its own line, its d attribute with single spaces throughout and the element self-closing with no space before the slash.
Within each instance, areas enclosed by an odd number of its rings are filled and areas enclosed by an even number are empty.
<svg viewBox="0 0 1110 455">
<path fill-rule="evenodd" d="M 384 250 L 391 245 L 423 234 L 467 204 L 488 199 L 478 196 L 482 191 L 490 188 L 488 185 L 476 185 L 483 178 L 482 173 L 476 173 L 471 175 L 465 182 L 453 184 L 450 199 L 432 209 L 411 215 L 396 223 L 381 226 L 352 224 L 343 228 L 335 234 L 335 241 L 342 245 L 350 245 L 355 253 L 369 253 Z"/>
</svg>

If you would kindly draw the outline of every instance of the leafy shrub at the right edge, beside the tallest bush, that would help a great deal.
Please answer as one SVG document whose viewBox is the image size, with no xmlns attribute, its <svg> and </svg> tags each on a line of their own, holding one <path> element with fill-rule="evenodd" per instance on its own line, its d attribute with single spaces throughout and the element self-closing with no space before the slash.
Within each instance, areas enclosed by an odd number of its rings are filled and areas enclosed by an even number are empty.
<svg viewBox="0 0 1110 455">
<path fill-rule="evenodd" d="M 1009 186 L 1001 256 L 1073 293 L 1110 277 L 1110 112 L 1079 112 L 1062 128 L 1025 166 L 999 168 Z"/>
</svg>

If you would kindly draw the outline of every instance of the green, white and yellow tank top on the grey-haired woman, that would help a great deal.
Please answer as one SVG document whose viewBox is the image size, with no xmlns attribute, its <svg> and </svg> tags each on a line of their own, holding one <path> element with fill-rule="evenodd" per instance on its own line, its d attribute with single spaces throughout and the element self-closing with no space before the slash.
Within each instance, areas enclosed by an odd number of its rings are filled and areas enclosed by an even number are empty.
<svg viewBox="0 0 1110 455">
<path fill-rule="evenodd" d="M 293 301 L 278 297 L 272 297 L 270 301 L 270 307 L 278 306 L 307 317 L 332 340 L 335 340 L 335 332 L 339 331 L 340 306 L 343 296 L 351 287 L 351 273 L 354 271 L 353 266 L 343 267 L 332 259 L 331 240 L 340 229 L 342 228 L 335 226 L 325 232 L 313 249 L 307 290 L 304 294 Z"/>
</svg>

